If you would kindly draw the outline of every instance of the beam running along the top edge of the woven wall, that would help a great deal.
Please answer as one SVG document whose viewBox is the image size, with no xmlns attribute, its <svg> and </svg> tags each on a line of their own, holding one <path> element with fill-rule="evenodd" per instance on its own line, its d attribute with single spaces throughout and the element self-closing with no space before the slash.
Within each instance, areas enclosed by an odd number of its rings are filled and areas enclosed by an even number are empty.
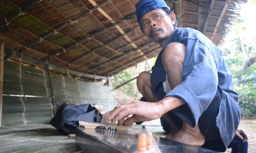
<svg viewBox="0 0 256 153">
<path fill-rule="evenodd" d="M 29 63 L 29 64 L 37 66 L 37 67 L 44 67 L 45 66 L 45 61 L 33 59 L 33 58 L 30 58 L 26 55 L 21 56 L 21 53 L 15 53 L 12 58 L 16 59 L 16 60 L 20 60 L 22 58 L 23 62 Z M 108 78 L 107 76 L 98 76 L 98 75 L 91 75 L 91 74 L 81 73 L 81 72 L 78 72 L 78 71 L 74 71 L 74 70 L 63 68 L 63 67 L 55 66 L 55 65 L 52 65 L 50 63 L 49 63 L 49 69 L 54 70 L 54 71 L 58 71 L 58 72 L 63 73 L 63 74 L 68 73 L 69 75 L 80 76 L 80 77 L 91 78 L 91 79 L 94 79 L 94 78 L 95 79 L 107 79 Z"/>
</svg>

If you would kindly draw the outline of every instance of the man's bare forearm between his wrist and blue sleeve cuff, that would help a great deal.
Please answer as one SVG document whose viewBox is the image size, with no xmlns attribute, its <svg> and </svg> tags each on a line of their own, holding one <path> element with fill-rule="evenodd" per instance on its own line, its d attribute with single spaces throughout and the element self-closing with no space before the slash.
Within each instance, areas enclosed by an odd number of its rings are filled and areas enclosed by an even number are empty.
<svg viewBox="0 0 256 153">
<path fill-rule="evenodd" d="M 164 112 L 163 114 L 165 114 L 166 112 L 173 110 L 177 107 L 180 107 L 185 103 L 186 102 L 183 101 L 182 99 L 174 98 L 172 96 L 167 96 L 163 100 L 159 101 L 159 104 L 161 105 L 163 112 Z"/>
</svg>

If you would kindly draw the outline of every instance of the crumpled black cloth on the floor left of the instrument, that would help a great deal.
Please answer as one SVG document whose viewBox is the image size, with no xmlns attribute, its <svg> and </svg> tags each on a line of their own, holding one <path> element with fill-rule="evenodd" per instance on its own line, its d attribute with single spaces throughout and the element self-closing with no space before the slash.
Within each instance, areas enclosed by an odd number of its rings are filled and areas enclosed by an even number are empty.
<svg viewBox="0 0 256 153">
<path fill-rule="evenodd" d="M 97 111 L 91 104 L 69 104 L 57 112 L 50 124 L 63 134 L 74 134 L 78 121 L 97 122 Z M 101 114 L 98 122 L 105 123 Z"/>
</svg>

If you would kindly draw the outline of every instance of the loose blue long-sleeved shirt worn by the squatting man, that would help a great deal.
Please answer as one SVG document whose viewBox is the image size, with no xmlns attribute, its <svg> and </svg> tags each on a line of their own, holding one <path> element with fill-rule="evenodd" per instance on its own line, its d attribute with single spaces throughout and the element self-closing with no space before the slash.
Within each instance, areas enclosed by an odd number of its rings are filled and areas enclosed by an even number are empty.
<svg viewBox="0 0 256 153">
<path fill-rule="evenodd" d="M 162 54 L 165 47 L 173 42 L 186 46 L 182 83 L 166 94 L 163 89 L 166 73 L 162 64 Z M 229 146 L 241 119 L 241 108 L 237 103 L 239 95 L 234 91 L 232 75 L 221 50 L 209 38 L 195 29 L 174 28 L 152 68 L 151 84 L 158 100 L 173 96 L 186 102 L 191 111 L 179 108 L 172 111 L 191 127 L 196 126 L 199 117 L 212 102 L 217 87 L 221 88 L 222 100 L 216 122 L 223 143 L 226 148 Z M 146 101 L 144 98 L 141 100 Z"/>
</svg>

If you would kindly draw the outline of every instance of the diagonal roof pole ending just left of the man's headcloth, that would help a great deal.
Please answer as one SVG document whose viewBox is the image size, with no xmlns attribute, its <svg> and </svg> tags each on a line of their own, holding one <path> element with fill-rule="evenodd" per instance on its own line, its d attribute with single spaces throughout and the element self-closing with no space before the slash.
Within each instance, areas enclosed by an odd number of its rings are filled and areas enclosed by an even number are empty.
<svg viewBox="0 0 256 153">
<path fill-rule="evenodd" d="M 71 45 L 65 46 L 65 47 L 63 47 L 63 49 L 60 49 L 60 50 L 52 53 L 51 55 L 49 55 L 49 57 L 45 58 L 44 60 L 51 60 L 55 56 L 57 56 L 57 55 L 59 55 L 59 54 L 61 54 L 63 52 L 67 52 L 68 50 L 73 49 L 74 47 L 78 46 L 79 44 L 82 44 L 82 43 L 84 43 L 86 41 L 89 41 L 91 38 L 93 38 L 95 36 L 98 36 L 98 35 L 100 35 L 102 33 L 105 33 L 107 30 L 109 30 L 109 29 L 111 29 L 113 27 L 116 27 L 118 25 L 121 25 L 122 23 L 125 23 L 125 22 L 126 21 L 115 22 L 115 24 L 112 24 L 112 25 L 110 25 L 108 27 L 102 28 L 102 29 L 100 29 L 100 30 L 90 34 L 89 36 L 85 36 L 85 37 L 83 37 L 81 39 L 78 39 L 76 42 L 72 43 Z"/>
</svg>

